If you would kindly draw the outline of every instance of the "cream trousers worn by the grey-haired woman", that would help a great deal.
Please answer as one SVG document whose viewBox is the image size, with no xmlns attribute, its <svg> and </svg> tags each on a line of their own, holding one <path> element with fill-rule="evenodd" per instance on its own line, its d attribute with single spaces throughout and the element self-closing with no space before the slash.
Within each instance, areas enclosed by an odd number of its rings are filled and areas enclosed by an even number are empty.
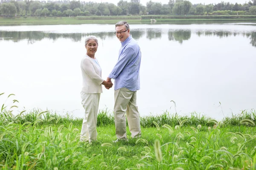
<svg viewBox="0 0 256 170">
<path fill-rule="evenodd" d="M 81 141 L 94 141 L 97 140 L 97 114 L 99 108 L 100 93 L 86 94 L 81 92 L 81 103 L 84 107 L 84 119 L 81 129 Z"/>
</svg>

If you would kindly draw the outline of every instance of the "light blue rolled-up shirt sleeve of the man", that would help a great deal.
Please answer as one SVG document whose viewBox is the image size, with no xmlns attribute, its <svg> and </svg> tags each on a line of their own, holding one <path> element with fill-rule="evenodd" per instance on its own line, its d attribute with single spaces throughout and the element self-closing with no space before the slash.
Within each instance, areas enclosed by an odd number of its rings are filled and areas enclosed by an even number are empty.
<svg viewBox="0 0 256 170">
<path fill-rule="evenodd" d="M 132 48 L 126 48 L 125 51 L 122 52 L 116 65 L 114 66 L 113 70 L 109 74 L 109 78 L 116 79 L 119 74 L 123 71 L 123 69 L 133 60 L 135 57 L 135 51 Z"/>
</svg>

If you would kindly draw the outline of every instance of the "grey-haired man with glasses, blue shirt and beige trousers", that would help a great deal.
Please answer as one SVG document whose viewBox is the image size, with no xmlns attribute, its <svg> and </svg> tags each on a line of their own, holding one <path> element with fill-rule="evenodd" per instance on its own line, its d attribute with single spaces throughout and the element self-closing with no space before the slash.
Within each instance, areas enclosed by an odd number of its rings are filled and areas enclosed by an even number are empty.
<svg viewBox="0 0 256 170">
<path fill-rule="evenodd" d="M 115 79 L 114 118 L 117 139 L 128 141 L 126 135 L 126 119 L 132 138 L 141 136 L 140 114 L 136 98 L 140 89 L 141 51 L 137 42 L 130 35 L 129 24 L 125 21 L 116 23 L 116 37 L 121 42 L 118 61 L 107 78 L 107 82 Z"/>
</svg>

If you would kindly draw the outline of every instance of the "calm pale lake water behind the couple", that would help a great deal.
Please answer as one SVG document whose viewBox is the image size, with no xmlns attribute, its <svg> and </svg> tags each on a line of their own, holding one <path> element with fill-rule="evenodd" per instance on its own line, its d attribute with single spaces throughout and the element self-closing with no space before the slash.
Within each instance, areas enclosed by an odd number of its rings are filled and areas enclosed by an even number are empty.
<svg viewBox="0 0 256 170">
<path fill-rule="evenodd" d="M 0 105 L 83 116 L 80 61 L 84 37 L 99 38 L 96 57 L 107 78 L 120 42 L 108 24 L 0 26 Z M 256 23 L 137 24 L 131 34 L 142 51 L 141 116 L 163 111 L 212 118 L 256 108 Z M 100 109 L 113 109 L 113 88 Z M 220 105 L 221 103 L 221 105 Z"/>
</svg>

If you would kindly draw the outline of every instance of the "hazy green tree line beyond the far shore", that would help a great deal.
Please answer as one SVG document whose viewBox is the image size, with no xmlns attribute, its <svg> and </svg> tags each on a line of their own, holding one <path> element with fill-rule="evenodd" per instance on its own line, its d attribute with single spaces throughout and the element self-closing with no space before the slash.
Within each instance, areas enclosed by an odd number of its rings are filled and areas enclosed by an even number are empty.
<svg viewBox="0 0 256 170">
<path fill-rule="evenodd" d="M 76 0 L 34 1 L 1 0 L 0 15 L 3 17 L 74 17 L 117 15 L 230 15 L 256 14 L 256 0 L 248 3 L 221 2 L 217 4 L 192 4 L 189 0 L 169 0 L 168 4 L 152 2 L 146 6 L 140 0 L 120 0 L 113 3 L 81 2 Z"/>
</svg>

